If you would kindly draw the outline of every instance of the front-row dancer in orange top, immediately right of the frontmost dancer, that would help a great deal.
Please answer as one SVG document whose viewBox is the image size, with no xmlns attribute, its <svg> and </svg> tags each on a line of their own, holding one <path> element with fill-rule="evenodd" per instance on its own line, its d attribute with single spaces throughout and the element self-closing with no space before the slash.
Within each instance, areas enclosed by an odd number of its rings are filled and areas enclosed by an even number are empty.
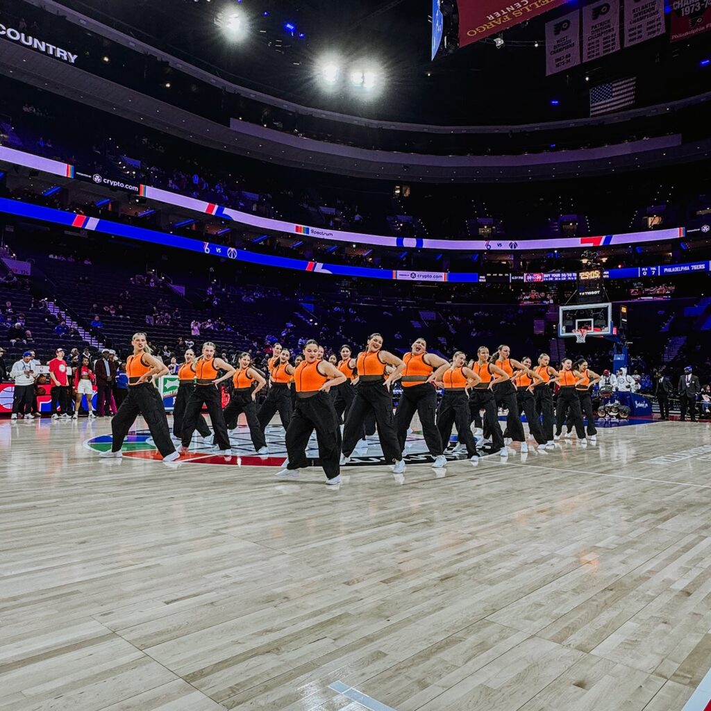
<svg viewBox="0 0 711 711">
<path fill-rule="evenodd" d="M 395 432 L 390 386 L 402 373 L 405 363 L 397 358 L 397 355 L 383 351 L 383 336 L 380 333 L 370 335 L 368 347 L 358 353 L 355 362 L 358 368 L 358 388 L 343 428 L 341 464 L 348 464 L 355 445 L 363 437 L 365 418 L 369 412 L 373 412 L 385 461 L 394 461 L 395 468 L 392 471 L 396 476 L 400 476 L 405 471 L 405 460 L 402 459 L 402 449 Z M 388 365 L 394 368 L 389 375 L 386 373 Z"/>
</svg>

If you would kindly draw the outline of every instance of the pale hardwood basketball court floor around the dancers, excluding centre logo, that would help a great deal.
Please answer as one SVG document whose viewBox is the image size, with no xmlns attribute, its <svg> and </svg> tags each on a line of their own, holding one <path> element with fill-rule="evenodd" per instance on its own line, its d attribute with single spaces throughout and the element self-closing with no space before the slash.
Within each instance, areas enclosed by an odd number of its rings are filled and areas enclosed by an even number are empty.
<svg viewBox="0 0 711 711">
<path fill-rule="evenodd" d="M 678 711 L 711 665 L 709 424 L 337 491 L 108 432 L 0 423 L 1 711 Z"/>
</svg>

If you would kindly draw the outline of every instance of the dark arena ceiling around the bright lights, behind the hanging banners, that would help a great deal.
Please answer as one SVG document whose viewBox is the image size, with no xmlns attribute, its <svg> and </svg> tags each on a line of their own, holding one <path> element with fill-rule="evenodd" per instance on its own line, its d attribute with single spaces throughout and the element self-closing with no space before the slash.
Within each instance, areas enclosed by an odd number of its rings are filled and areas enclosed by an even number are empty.
<svg viewBox="0 0 711 711">
<path fill-rule="evenodd" d="M 619 77 L 637 78 L 638 106 L 711 85 L 711 68 L 700 67 L 700 58 L 708 54 L 708 34 L 677 43 L 663 35 L 545 77 L 545 23 L 570 12 L 570 3 L 503 33 L 503 48 L 488 38 L 431 62 L 431 0 L 60 2 L 235 83 L 371 118 L 530 123 L 584 116 L 589 88 Z M 228 41 L 219 21 L 235 9 L 247 18 L 248 28 L 239 41 Z M 337 90 L 324 90 L 314 71 L 327 56 L 340 58 L 344 73 L 363 61 L 381 68 L 383 89 L 366 96 L 344 81 Z"/>
</svg>

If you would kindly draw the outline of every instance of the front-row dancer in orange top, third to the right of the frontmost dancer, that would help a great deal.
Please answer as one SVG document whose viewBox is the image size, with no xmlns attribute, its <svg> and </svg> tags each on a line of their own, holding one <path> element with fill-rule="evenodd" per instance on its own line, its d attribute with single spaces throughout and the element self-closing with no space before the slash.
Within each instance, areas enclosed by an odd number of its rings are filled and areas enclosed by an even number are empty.
<svg viewBox="0 0 711 711">
<path fill-rule="evenodd" d="M 469 412 L 469 389 L 481 383 L 479 375 L 466 366 L 466 353 L 454 353 L 451 364 L 444 363 L 437 368 L 435 384 L 444 387 L 444 395 L 437 409 L 437 429 L 446 448 L 451 437 L 451 429 L 456 425 L 459 444 L 464 444 L 471 461 L 479 459 L 476 440 L 471 434 L 471 413 Z"/>
</svg>

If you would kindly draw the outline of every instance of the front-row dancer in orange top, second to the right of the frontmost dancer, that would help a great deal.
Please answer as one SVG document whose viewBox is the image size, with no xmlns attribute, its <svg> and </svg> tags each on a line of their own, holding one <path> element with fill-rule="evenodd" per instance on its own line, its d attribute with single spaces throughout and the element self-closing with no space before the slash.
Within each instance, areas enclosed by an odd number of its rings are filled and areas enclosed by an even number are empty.
<svg viewBox="0 0 711 711">
<path fill-rule="evenodd" d="M 395 431 L 400 451 L 405 449 L 407 430 L 410 429 L 415 412 L 419 415 L 422 424 L 424 442 L 427 444 L 429 454 L 434 456 L 432 466 L 441 469 L 447 466 L 447 459 L 442 449 L 442 437 L 439 435 L 434 415 L 437 412 L 437 390 L 434 389 L 434 371 L 445 368 L 449 363 L 444 358 L 434 353 L 427 353 L 427 341 L 416 338 L 412 343 L 410 353 L 405 353 L 402 358 L 405 368 L 402 369 L 400 381 L 402 382 L 402 395 L 397 403 L 395 412 Z"/>
</svg>

